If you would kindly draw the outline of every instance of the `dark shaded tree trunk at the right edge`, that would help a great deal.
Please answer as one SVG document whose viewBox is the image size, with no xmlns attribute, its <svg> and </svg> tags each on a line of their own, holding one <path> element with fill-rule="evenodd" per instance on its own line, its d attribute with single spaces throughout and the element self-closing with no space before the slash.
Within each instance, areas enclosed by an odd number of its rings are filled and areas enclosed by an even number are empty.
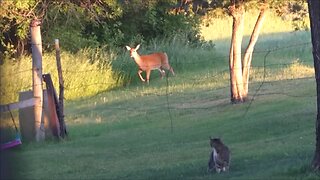
<svg viewBox="0 0 320 180">
<path fill-rule="evenodd" d="M 314 169 L 320 169 L 320 1 L 308 0 L 312 53 L 314 60 L 315 78 L 317 83 L 317 120 L 316 120 L 316 150 L 312 161 Z"/>
</svg>

